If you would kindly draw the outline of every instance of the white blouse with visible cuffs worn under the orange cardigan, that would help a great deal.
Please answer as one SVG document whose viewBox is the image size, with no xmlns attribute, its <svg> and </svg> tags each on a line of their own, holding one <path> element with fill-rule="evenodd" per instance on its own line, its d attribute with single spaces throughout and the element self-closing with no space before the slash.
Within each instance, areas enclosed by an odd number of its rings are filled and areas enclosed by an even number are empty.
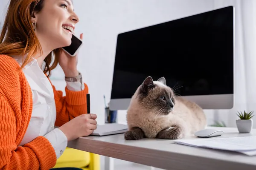
<svg viewBox="0 0 256 170">
<path fill-rule="evenodd" d="M 22 57 L 14 58 L 20 65 L 22 64 Z M 67 137 L 61 130 L 54 127 L 56 107 L 52 85 L 36 59 L 23 68 L 23 73 L 32 90 L 33 109 L 29 126 L 20 146 L 31 142 L 38 136 L 44 136 L 52 144 L 58 159 L 67 147 Z M 84 89 L 81 82 L 66 83 L 69 90 L 81 91 L 81 86 L 82 90 Z"/>
</svg>

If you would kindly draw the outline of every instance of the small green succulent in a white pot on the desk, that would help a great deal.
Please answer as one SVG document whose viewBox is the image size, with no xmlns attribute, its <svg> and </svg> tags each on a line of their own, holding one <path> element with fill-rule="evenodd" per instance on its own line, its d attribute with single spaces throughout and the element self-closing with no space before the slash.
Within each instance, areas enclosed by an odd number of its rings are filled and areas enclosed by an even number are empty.
<svg viewBox="0 0 256 170">
<path fill-rule="evenodd" d="M 239 133 L 250 133 L 253 128 L 253 120 L 251 119 L 254 116 L 253 111 L 251 111 L 250 113 L 247 113 L 245 111 L 244 113 L 238 112 L 238 114 L 236 115 L 240 118 L 236 120 L 236 126 Z"/>
</svg>

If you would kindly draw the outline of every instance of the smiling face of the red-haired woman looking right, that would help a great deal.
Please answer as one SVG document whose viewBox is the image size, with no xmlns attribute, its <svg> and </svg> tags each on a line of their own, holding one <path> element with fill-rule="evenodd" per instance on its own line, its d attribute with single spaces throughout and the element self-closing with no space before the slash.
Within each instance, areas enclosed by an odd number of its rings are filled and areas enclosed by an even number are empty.
<svg viewBox="0 0 256 170">
<path fill-rule="evenodd" d="M 41 11 L 34 12 L 35 34 L 42 46 L 56 49 L 71 44 L 72 32 L 79 18 L 71 0 L 43 0 Z"/>
</svg>

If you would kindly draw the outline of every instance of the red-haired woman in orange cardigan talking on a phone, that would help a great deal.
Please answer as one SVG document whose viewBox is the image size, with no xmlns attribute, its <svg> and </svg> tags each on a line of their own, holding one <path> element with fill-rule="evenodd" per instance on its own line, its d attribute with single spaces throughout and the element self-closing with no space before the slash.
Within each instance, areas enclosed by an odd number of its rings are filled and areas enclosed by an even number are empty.
<svg viewBox="0 0 256 170">
<path fill-rule="evenodd" d="M 77 56 L 61 50 L 78 22 L 71 0 L 10 0 L 0 37 L 0 169 L 48 170 L 68 141 L 96 129 Z M 57 64 L 66 96 L 48 79 Z"/>
</svg>

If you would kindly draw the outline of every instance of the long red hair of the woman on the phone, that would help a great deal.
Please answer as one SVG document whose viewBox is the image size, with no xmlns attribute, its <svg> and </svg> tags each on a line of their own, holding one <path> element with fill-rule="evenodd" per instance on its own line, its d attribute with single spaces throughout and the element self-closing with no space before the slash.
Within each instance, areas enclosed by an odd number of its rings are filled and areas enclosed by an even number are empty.
<svg viewBox="0 0 256 170">
<path fill-rule="evenodd" d="M 42 48 L 32 26 L 31 17 L 34 11 L 41 11 L 44 0 L 11 0 L 0 35 L 0 54 L 9 56 L 25 55 L 21 65 L 23 68 Z M 58 58 L 54 57 L 59 50 L 52 51 L 45 59 L 44 73 L 50 76 L 51 70 L 58 65 Z M 52 59 L 54 59 L 50 66 Z"/>
</svg>

